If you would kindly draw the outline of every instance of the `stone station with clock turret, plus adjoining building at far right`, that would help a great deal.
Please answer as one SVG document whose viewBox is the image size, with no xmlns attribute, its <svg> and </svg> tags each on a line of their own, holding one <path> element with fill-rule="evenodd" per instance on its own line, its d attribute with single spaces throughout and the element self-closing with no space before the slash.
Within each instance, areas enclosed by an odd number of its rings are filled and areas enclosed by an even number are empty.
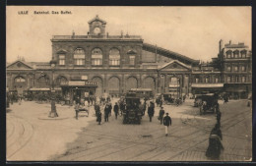
<svg viewBox="0 0 256 166">
<path fill-rule="evenodd" d="M 220 41 L 220 53 L 211 63 L 145 43 L 141 36 L 108 35 L 106 22 L 97 16 L 87 35 L 53 35 L 52 59 L 7 65 L 9 90 L 59 90 L 65 98 L 103 93 L 120 95 L 131 88 L 152 88 L 154 93 L 179 94 L 229 91 L 238 97 L 251 92 L 251 57 L 243 43 Z M 238 88 L 236 88 L 239 86 Z"/>
</svg>

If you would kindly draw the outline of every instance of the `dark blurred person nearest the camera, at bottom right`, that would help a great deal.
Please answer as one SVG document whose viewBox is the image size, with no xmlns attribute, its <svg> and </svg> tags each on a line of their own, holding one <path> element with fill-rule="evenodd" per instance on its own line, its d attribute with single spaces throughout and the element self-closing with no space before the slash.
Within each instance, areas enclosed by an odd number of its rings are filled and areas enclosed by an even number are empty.
<svg viewBox="0 0 256 166">
<path fill-rule="evenodd" d="M 206 156 L 210 159 L 220 159 L 220 155 L 224 150 L 224 145 L 218 135 L 212 134 L 209 138 L 209 146 L 206 151 Z"/>
</svg>

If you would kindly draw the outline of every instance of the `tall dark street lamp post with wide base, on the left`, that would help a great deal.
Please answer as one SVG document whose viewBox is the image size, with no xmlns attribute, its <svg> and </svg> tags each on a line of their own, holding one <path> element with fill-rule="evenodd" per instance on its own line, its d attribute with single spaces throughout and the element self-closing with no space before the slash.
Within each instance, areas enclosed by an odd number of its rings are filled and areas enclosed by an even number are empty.
<svg viewBox="0 0 256 166">
<path fill-rule="evenodd" d="M 52 73 L 52 77 L 51 77 L 51 90 L 50 90 L 50 94 L 51 94 L 51 110 L 49 113 L 49 117 L 50 118 L 55 118 L 58 117 L 57 111 L 56 111 L 56 106 L 55 106 L 55 89 L 54 89 L 54 69 L 56 66 L 56 61 L 51 60 L 50 61 L 50 67 L 51 67 L 51 73 Z"/>
</svg>

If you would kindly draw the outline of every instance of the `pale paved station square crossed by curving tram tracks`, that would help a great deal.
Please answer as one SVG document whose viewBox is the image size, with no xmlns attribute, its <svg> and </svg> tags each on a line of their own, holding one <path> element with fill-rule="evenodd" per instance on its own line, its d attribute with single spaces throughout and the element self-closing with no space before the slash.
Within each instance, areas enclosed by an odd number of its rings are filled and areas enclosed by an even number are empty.
<svg viewBox="0 0 256 166">
<path fill-rule="evenodd" d="M 46 117 L 50 104 L 15 103 L 7 113 L 7 160 L 52 161 L 207 161 L 205 151 L 215 126 L 213 114 L 199 115 L 193 100 L 163 105 L 172 118 L 169 135 L 146 114 L 141 125 L 123 125 L 122 117 L 96 124 L 94 110 L 75 119 L 73 107 L 57 105 L 59 118 Z M 245 161 L 252 155 L 252 113 L 246 100 L 220 101 L 224 152 L 220 161 Z M 45 119 L 43 119 L 45 117 Z M 38 148 L 39 147 L 39 148 Z"/>
</svg>

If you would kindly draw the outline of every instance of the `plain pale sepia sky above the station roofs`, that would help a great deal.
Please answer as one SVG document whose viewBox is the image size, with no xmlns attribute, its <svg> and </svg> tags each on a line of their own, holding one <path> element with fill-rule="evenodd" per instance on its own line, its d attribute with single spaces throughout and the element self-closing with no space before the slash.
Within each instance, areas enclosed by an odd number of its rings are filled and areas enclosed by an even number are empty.
<svg viewBox="0 0 256 166">
<path fill-rule="evenodd" d="M 19 15 L 28 11 L 28 15 Z M 49 11 L 49 15 L 34 15 Z M 52 11 L 72 14 L 54 15 Z M 7 6 L 8 63 L 24 57 L 27 62 L 51 60 L 52 35 L 87 35 L 88 22 L 104 20 L 109 35 L 141 35 L 145 43 L 211 61 L 219 53 L 219 41 L 244 42 L 251 48 L 251 7 L 75 7 Z"/>
</svg>

